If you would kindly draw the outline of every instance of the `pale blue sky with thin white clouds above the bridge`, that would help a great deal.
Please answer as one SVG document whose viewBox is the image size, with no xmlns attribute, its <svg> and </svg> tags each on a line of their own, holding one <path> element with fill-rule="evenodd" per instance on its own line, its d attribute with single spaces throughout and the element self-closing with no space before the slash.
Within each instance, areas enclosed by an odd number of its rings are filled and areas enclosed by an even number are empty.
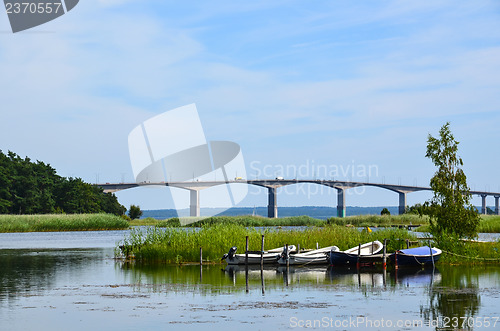
<svg viewBox="0 0 500 331">
<path fill-rule="evenodd" d="M 449 121 L 471 189 L 500 192 L 500 2 L 85 0 L 15 34 L 0 11 L 0 98 L 0 150 L 91 183 L 135 181 L 128 134 L 195 103 L 207 140 L 241 146 L 249 179 L 302 169 L 428 186 L 427 137 Z M 163 209 L 169 194 L 117 196 Z M 336 203 L 314 185 L 278 195 Z M 240 205 L 266 204 L 249 187 Z M 397 204 L 386 190 L 347 194 L 351 206 Z"/>
</svg>

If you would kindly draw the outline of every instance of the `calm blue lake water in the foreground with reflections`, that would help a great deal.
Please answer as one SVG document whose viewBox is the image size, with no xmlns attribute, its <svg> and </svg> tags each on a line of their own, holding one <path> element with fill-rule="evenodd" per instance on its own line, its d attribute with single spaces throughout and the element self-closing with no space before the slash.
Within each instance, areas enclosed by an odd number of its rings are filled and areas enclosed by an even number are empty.
<svg viewBox="0 0 500 331">
<path fill-rule="evenodd" d="M 141 266 L 125 233 L 0 234 L 0 329 L 500 330 L 499 266 Z"/>
</svg>

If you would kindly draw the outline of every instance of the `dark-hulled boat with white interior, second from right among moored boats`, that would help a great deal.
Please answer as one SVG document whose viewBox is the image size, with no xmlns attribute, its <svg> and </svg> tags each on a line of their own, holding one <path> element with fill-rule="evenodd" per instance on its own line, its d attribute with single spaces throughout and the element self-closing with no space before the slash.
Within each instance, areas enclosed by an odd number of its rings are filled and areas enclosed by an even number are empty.
<svg viewBox="0 0 500 331">
<path fill-rule="evenodd" d="M 330 251 L 328 253 L 328 260 L 331 265 L 381 262 L 383 255 L 377 253 L 383 248 L 384 244 L 375 240 L 361 245 L 361 252 L 359 252 L 359 246 L 345 251 Z"/>
</svg>

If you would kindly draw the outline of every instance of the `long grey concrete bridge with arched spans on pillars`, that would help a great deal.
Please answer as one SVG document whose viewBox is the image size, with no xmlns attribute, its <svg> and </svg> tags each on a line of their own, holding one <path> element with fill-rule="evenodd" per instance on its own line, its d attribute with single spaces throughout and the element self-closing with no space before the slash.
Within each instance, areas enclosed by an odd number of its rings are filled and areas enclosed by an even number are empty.
<svg viewBox="0 0 500 331">
<path fill-rule="evenodd" d="M 337 217 L 345 217 L 346 215 L 346 194 L 345 191 L 355 187 L 372 186 L 390 190 L 399 195 L 399 214 L 404 214 L 406 210 L 406 194 L 417 191 L 432 191 L 430 187 L 422 186 L 406 186 L 380 183 L 366 182 L 351 182 L 338 180 L 307 180 L 307 179 L 256 179 L 245 180 L 236 179 L 229 181 L 192 181 L 192 182 L 142 182 L 142 183 L 118 183 L 118 184 L 96 184 L 104 189 L 104 192 L 117 192 L 134 187 L 147 186 L 169 186 L 176 187 L 190 192 L 190 216 L 200 216 L 200 191 L 209 187 L 225 184 L 247 184 L 265 187 L 268 190 L 268 205 L 267 216 L 269 218 L 278 217 L 278 200 L 277 189 L 287 185 L 294 184 L 317 184 L 331 187 L 337 190 Z M 472 195 L 478 195 L 482 198 L 481 213 L 486 214 L 486 197 L 493 196 L 495 198 L 495 214 L 500 215 L 499 198 L 500 193 L 471 191 Z"/>
</svg>

